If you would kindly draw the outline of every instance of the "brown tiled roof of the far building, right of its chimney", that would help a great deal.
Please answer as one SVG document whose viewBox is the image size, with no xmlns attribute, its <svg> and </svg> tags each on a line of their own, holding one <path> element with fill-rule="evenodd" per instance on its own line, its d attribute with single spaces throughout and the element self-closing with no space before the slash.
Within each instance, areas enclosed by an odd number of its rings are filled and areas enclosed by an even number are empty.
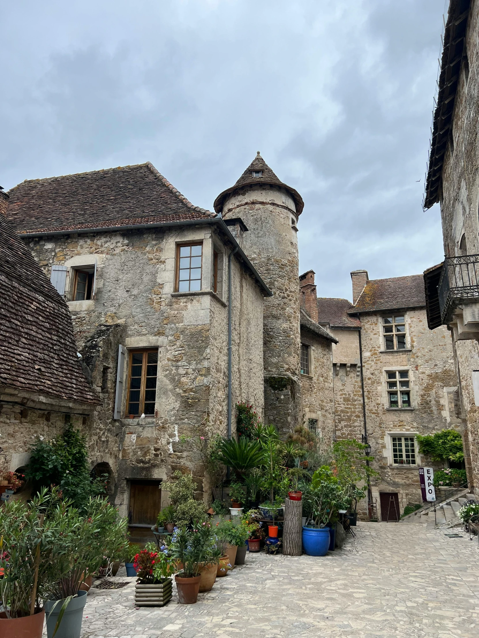
<svg viewBox="0 0 479 638">
<path fill-rule="evenodd" d="M 390 279 L 370 279 L 350 312 L 420 308 L 425 305 L 423 276 L 409 275 Z"/>
</svg>

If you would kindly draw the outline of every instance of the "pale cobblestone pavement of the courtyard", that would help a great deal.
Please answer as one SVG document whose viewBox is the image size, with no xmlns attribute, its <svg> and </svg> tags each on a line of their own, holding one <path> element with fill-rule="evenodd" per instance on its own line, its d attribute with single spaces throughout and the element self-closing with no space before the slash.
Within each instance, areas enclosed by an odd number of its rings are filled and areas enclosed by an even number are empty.
<svg viewBox="0 0 479 638">
<path fill-rule="evenodd" d="M 457 530 L 360 523 L 322 558 L 247 554 L 195 605 L 178 604 L 174 589 L 166 607 L 135 609 L 134 579 L 93 589 L 82 638 L 478 638 L 478 541 L 445 531 Z"/>
</svg>

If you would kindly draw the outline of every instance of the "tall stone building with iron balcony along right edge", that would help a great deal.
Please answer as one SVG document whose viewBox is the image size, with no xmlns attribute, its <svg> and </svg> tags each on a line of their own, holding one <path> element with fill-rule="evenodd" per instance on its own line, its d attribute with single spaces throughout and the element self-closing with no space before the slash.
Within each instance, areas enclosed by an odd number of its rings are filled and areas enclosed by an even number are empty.
<svg viewBox="0 0 479 638">
<path fill-rule="evenodd" d="M 448 8 L 424 209 L 439 202 L 445 260 L 424 273 L 432 334 L 447 326 L 469 489 L 479 494 L 479 6 Z"/>
</svg>

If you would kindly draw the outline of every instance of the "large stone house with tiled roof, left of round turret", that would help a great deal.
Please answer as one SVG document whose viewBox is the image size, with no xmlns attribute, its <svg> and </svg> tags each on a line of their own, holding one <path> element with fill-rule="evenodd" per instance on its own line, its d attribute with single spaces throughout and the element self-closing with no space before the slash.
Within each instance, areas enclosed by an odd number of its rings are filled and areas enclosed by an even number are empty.
<svg viewBox="0 0 479 638">
<path fill-rule="evenodd" d="M 8 216 L 70 309 L 100 398 L 91 464 L 108 468 L 132 531 L 154 522 L 174 470 L 208 496 L 185 439 L 226 436 L 236 401 L 263 412 L 271 292 L 230 231 L 241 224 L 193 206 L 149 163 L 22 182 Z"/>
</svg>

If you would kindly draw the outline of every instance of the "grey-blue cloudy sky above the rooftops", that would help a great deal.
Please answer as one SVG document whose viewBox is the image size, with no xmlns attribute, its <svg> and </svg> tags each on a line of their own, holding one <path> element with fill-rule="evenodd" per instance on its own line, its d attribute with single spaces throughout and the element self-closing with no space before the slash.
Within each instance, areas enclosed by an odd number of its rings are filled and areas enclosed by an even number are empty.
<svg viewBox="0 0 479 638">
<path fill-rule="evenodd" d="M 0 184 L 151 161 L 212 210 L 256 151 L 318 294 L 441 261 L 422 211 L 444 0 L 0 2 Z"/>
</svg>

